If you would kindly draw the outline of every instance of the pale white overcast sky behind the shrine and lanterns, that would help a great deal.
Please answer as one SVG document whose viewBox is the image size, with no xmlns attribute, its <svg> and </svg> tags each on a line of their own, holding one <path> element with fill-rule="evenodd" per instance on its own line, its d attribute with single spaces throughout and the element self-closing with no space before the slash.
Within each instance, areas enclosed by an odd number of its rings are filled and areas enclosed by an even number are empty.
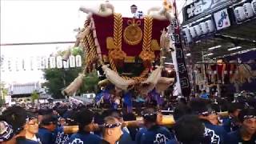
<svg viewBox="0 0 256 144">
<path fill-rule="evenodd" d="M 86 14 L 78 11 L 80 6 L 94 7 L 103 2 L 99 0 L 1 0 L 1 43 L 18 42 L 65 42 L 75 41 L 74 29 L 83 26 Z M 130 15 L 130 6 L 135 4 L 138 10 L 146 11 L 153 6 L 162 6 L 162 0 L 110 0 L 115 12 Z M 181 11 L 185 0 L 177 0 Z M 182 16 L 182 13 L 180 14 Z M 30 58 L 52 54 L 66 49 L 72 44 L 1 46 L 1 55 L 5 58 Z M 40 71 L 1 72 L 4 82 L 42 81 Z"/>
</svg>

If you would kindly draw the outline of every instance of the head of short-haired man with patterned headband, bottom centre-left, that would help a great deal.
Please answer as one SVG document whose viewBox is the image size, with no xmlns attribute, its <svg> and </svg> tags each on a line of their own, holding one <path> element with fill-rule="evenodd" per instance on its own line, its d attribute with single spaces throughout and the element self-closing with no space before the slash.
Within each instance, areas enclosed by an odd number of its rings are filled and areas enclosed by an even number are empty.
<svg viewBox="0 0 256 144">
<path fill-rule="evenodd" d="M 106 117 L 104 118 L 103 130 L 102 130 L 102 144 L 115 144 L 121 143 L 122 138 L 122 123 L 117 118 Z"/>
</svg>

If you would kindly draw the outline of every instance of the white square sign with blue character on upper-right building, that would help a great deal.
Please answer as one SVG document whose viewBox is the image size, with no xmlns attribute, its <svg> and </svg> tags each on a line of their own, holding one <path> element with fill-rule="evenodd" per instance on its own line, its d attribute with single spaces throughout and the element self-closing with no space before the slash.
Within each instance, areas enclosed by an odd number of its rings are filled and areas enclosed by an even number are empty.
<svg viewBox="0 0 256 144">
<path fill-rule="evenodd" d="M 227 13 L 227 9 L 220 10 L 217 13 L 214 13 L 214 20 L 217 30 L 222 30 L 230 26 L 230 17 Z"/>
</svg>

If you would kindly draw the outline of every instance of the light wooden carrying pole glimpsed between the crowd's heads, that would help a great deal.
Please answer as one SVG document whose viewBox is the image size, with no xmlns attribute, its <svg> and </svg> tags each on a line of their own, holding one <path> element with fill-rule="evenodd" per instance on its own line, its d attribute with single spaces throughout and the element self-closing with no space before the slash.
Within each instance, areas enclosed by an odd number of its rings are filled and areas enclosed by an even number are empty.
<svg viewBox="0 0 256 144">
<path fill-rule="evenodd" d="M 227 112 L 222 112 L 219 113 L 221 117 L 226 117 L 228 115 Z M 162 116 L 162 122 L 159 124 L 162 126 L 172 126 L 174 125 L 174 117 L 173 115 L 163 115 Z M 143 126 L 143 120 L 142 117 L 138 117 L 136 121 L 126 121 L 123 122 L 123 126 L 127 127 L 140 127 Z M 94 124 L 94 130 L 99 130 L 101 129 L 101 126 L 98 124 Z M 78 132 L 78 126 L 64 126 L 64 133 L 65 134 L 74 134 Z"/>
</svg>

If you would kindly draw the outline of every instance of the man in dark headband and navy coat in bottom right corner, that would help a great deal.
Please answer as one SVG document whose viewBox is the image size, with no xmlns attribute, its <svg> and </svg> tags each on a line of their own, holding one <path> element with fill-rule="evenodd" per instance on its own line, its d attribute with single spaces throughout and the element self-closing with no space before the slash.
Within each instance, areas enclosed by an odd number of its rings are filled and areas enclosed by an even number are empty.
<svg viewBox="0 0 256 144">
<path fill-rule="evenodd" d="M 242 123 L 240 129 L 230 132 L 230 142 L 255 143 L 256 142 L 256 111 L 255 109 L 245 109 L 240 111 L 238 119 Z"/>
</svg>

